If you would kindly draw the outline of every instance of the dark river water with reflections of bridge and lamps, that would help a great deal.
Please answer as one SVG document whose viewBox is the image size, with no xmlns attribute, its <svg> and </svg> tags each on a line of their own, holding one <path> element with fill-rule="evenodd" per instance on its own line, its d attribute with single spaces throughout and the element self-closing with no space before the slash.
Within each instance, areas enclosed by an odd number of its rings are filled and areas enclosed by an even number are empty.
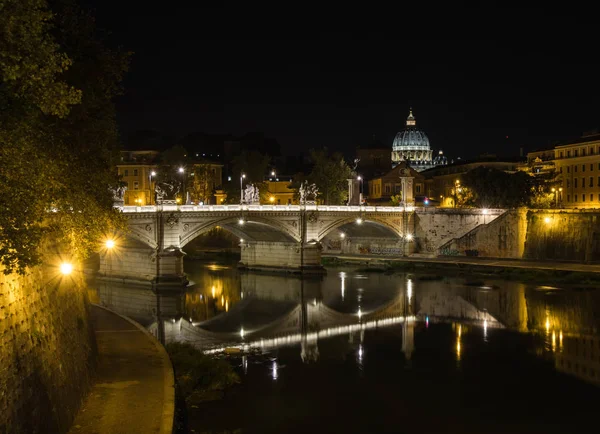
<svg viewBox="0 0 600 434">
<path fill-rule="evenodd" d="M 95 283 L 165 341 L 226 357 L 241 384 L 194 432 L 598 432 L 600 291 L 331 268 L 319 278 L 186 263 L 184 293 Z"/>
</svg>

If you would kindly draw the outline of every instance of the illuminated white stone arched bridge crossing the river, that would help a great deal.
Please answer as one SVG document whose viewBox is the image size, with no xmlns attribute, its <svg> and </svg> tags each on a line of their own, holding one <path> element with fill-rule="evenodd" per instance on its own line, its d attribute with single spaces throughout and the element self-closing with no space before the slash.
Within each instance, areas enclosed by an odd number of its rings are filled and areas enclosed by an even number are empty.
<svg viewBox="0 0 600 434">
<path fill-rule="evenodd" d="M 166 285 L 185 282 L 185 246 L 215 227 L 239 237 L 241 267 L 308 273 L 322 271 L 324 248 L 358 249 L 362 246 L 360 240 L 374 243 L 378 251 L 400 256 L 413 252 L 436 254 L 436 249 L 448 240 L 504 213 L 322 205 L 158 205 L 120 209 L 128 220 L 127 237 L 132 242 L 123 246 L 117 259 L 115 255 L 102 255 L 100 275 Z M 324 243 L 326 239 L 335 242 Z M 340 240 L 344 240 L 344 246 Z"/>
</svg>

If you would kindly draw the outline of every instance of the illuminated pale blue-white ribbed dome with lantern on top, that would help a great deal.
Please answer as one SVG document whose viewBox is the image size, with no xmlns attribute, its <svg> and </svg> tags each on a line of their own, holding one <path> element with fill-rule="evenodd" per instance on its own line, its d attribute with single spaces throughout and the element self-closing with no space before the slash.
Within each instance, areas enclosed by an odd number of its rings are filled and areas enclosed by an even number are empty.
<svg viewBox="0 0 600 434">
<path fill-rule="evenodd" d="M 411 108 L 406 118 L 406 128 L 396 134 L 392 144 L 392 164 L 396 166 L 399 162 L 406 161 L 413 169 L 421 171 L 433 167 L 432 157 L 429 138 L 417 129 Z"/>
</svg>

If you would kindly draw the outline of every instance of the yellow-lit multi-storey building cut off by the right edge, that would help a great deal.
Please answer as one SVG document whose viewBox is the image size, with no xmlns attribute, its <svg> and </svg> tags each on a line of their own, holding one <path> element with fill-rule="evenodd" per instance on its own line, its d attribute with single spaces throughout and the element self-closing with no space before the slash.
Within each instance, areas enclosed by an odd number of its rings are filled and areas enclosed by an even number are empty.
<svg viewBox="0 0 600 434">
<path fill-rule="evenodd" d="M 554 166 L 566 208 L 600 208 L 600 133 L 554 147 Z"/>
</svg>

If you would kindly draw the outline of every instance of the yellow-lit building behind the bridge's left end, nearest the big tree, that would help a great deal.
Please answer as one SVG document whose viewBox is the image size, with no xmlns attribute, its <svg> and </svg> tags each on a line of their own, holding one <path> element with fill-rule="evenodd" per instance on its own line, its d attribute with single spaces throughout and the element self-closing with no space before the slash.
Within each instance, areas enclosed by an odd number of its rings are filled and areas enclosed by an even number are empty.
<svg viewBox="0 0 600 434">
<path fill-rule="evenodd" d="M 123 196 L 125 205 L 154 205 L 154 181 L 158 155 L 158 151 L 121 152 L 117 172 L 127 187 Z"/>
</svg>

